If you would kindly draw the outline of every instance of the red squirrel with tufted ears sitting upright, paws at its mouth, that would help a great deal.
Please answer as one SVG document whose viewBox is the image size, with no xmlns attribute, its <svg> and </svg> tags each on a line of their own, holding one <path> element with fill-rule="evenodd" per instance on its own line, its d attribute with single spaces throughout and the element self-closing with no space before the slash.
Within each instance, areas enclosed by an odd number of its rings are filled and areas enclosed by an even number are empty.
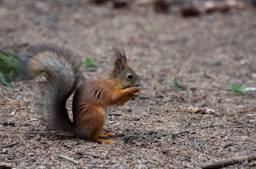
<svg viewBox="0 0 256 169">
<path fill-rule="evenodd" d="M 121 48 L 122 49 L 122 48 Z M 114 48 L 114 65 L 97 81 L 79 86 L 81 75 L 74 57 L 64 48 L 41 44 L 20 55 L 21 80 L 29 81 L 45 73 L 41 87 L 40 113 L 50 130 L 66 132 L 102 144 L 116 141 L 102 138 L 115 133 L 100 132 L 108 118 L 108 107 L 122 105 L 140 95 L 140 79 L 127 65 L 124 50 Z M 68 116 L 66 102 L 74 93 L 73 122 Z M 100 137 L 100 138 L 99 138 Z"/>
</svg>

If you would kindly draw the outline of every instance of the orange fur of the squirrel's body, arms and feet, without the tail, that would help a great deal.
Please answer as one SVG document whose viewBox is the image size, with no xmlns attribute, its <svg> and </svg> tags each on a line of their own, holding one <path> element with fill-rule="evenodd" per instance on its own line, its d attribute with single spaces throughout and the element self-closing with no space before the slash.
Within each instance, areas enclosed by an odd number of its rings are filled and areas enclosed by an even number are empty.
<svg viewBox="0 0 256 169">
<path fill-rule="evenodd" d="M 123 73 L 125 76 L 128 72 L 136 78 L 136 74 L 127 64 L 120 65 L 123 69 L 126 68 L 126 72 Z M 112 67 L 98 81 L 84 83 L 76 90 L 73 98 L 73 118 L 78 136 L 91 141 L 100 140 L 102 143 L 114 143 L 114 141 L 98 138 L 104 126 L 106 113 L 104 109 L 109 106 L 121 105 L 133 96 L 140 95 L 140 88 L 137 86 L 141 84 L 139 79 L 134 81 L 135 84 L 126 79 L 120 81 L 119 76 L 116 68 Z M 130 88 L 125 88 L 126 86 Z M 101 137 L 106 137 L 106 135 L 103 134 Z"/>
</svg>

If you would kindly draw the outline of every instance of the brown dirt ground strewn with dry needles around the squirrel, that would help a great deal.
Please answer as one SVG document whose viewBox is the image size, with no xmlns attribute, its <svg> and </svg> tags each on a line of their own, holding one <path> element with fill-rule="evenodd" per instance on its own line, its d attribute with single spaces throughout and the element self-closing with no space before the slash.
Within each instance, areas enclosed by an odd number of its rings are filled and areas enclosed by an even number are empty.
<svg viewBox="0 0 256 169">
<path fill-rule="evenodd" d="M 110 109 L 120 115 L 109 116 L 103 130 L 118 134 L 113 138 L 116 144 L 82 139 L 78 144 L 74 137 L 44 133 L 35 102 L 43 78 L 12 82 L 13 88 L 0 84 L 0 103 L 28 103 L 0 105 L 0 162 L 13 168 L 200 168 L 207 161 L 256 153 L 256 91 L 230 90 L 231 83 L 256 87 L 256 10 L 247 6 L 182 18 L 179 6 L 161 14 L 154 12 L 152 3 L 141 2 L 114 9 L 111 2 L 0 0 L 0 49 L 22 53 L 42 42 L 64 46 L 81 62 L 87 57 L 95 60 L 95 72 L 82 68 L 84 81 L 92 81 L 111 67 L 112 47 L 122 46 L 143 83 L 141 95 L 161 95 Z M 202 1 L 195 3 L 202 6 Z M 174 78 L 185 88 L 173 88 Z M 71 102 L 69 98 L 70 116 Z M 183 110 L 189 107 L 215 112 Z M 4 122 L 14 122 L 15 127 Z M 144 141 L 183 130 L 190 134 Z M 27 133 L 31 131 L 43 133 Z M 123 139 L 130 135 L 146 138 Z M 2 153 L 2 145 L 16 141 Z M 77 151 L 87 154 L 69 154 Z M 70 164 L 59 154 L 80 163 Z M 255 161 L 227 168 L 252 167 Z"/>
</svg>

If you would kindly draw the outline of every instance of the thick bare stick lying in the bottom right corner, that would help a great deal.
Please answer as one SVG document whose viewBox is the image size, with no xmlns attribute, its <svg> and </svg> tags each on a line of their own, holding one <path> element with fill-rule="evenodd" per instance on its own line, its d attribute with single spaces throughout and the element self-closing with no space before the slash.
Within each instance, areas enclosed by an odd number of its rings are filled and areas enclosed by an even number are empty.
<svg viewBox="0 0 256 169">
<path fill-rule="evenodd" d="M 201 165 L 201 167 L 206 168 L 206 169 L 215 169 L 215 168 L 225 167 L 228 165 L 234 165 L 241 161 L 245 161 L 245 160 L 252 161 L 255 159 L 256 159 L 256 154 L 251 154 L 248 156 L 240 156 L 240 157 L 235 157 L 235 158 L 228 158 L 228 159 L 224 159 L 224 160 L 218 160 L 218 161 L 204 163 Z"/>
</svg>

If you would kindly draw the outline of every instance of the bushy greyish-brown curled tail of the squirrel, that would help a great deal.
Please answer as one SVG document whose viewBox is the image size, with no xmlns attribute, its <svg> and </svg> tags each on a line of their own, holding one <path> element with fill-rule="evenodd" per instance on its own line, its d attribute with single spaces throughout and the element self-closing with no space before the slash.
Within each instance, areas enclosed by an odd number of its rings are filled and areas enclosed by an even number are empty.
<svg viewBox="0 0 256 169">
<path fill-rule="evenodd" d="M 41 113 L 49 129 L 72 132 L 74 124 L 68 117 L 66 102 L 76 90 L 79 68 L 69 51 L 54 45 L 31 47 L 20 60 L 21 79 L 32 80 L 44 72 L 46 82 L 41 87 Z"/>
</svg>

